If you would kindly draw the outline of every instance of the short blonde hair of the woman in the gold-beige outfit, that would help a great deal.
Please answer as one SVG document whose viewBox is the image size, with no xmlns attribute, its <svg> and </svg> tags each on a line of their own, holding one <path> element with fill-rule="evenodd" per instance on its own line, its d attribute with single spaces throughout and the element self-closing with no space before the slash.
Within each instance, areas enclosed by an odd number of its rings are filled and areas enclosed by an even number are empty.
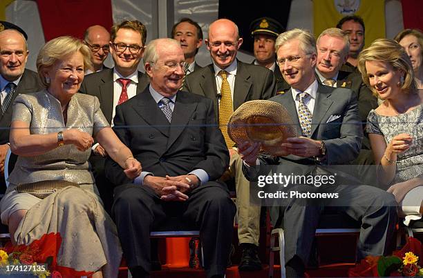
<svg viewBox="0 0 423 278">
<path fill-rule="evenodd" d="M 63 36 L 52 39 L 44 44 L 37 56 L 38 76 L 44 87 L 48 88 L 50 85 L 50 83 L 46 81 L 46 77 L 44 77 L 46 68 L 53 66 L 56 61 L 62 60 L 68 55 L 75 54 L 76 52 L 81 53 L 82 57 L 84 57 L 84 70 L 87 68 L 92 69 L 91 50 L 81 40 L 74 37 Z"/>
</svg>

